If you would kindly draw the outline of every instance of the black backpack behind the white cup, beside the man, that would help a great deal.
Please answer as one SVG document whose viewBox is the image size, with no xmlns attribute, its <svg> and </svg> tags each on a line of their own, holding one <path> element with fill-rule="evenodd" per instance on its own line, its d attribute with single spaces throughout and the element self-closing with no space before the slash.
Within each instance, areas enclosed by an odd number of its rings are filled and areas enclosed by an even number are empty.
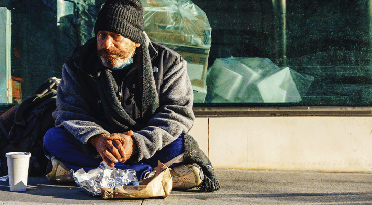
<svg viewBox="0 0 372 205">
<path fill-rule="evenodd" d="M 0 115 L 0 176 L 8 174 L 7 152 L 30 152 L 29 175 L 44 174 L 48 159 L 43 152 L 43 137 L 54 127 L 60 79 L 47 79 L 31 97 Z"/>
</svg>

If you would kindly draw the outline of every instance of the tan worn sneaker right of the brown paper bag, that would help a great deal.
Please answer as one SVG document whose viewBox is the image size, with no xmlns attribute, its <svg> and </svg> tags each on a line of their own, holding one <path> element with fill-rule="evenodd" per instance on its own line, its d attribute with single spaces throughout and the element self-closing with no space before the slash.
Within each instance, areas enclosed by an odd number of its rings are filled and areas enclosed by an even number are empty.
<svg viewBox="0 0 372 205">
<path fill-rule="evenodd" d="M 196 163 L 192 165 L 179 165 L 170 170 L 174 189 L 191 189 L 202 183 L 204 174 Z"/>
</svg>

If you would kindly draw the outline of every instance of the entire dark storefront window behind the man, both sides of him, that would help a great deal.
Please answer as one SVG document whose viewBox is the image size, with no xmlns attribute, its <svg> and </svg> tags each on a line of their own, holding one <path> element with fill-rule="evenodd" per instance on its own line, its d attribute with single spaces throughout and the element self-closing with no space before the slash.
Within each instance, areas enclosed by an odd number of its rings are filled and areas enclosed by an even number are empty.
<svg viewBox="0 0 372 205">
<path fill-rule="evenodd" d="M 61 77 L 103 2 L 0 1 L 11 13 L 13 103 Z M 195 106 L 371 105 L 370 0 L 142 2 L 151 40 L 188 61 Z"/>
</svg>

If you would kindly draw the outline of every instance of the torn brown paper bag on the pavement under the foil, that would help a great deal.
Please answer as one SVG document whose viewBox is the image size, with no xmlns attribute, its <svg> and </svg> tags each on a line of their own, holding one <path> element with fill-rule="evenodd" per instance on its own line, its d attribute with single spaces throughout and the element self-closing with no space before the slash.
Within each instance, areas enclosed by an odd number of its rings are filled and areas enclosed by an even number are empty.
<svg viewBox="0 0 372 205">
<path fill-rule="evenodd" d="M 167 198 L 173 187 L 167 166 L 158 161 L 154 176 L 139 181 L 139 186 L 101 187 L 102 198 Z"/>
</svg>

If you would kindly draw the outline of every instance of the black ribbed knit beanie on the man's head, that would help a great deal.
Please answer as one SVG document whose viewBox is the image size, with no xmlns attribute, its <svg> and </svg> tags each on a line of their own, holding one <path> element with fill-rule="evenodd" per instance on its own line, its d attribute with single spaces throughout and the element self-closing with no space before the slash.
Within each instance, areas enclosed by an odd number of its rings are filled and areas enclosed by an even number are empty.
<svg viewBox="0 0 372 205">
<path fill-rule="evenodd" d="M 108 0 L 98 12 L 94 33 L 111 31 L 142 43 L 145 35 L 143 7 L 140 0 Z"/>
</svg>

